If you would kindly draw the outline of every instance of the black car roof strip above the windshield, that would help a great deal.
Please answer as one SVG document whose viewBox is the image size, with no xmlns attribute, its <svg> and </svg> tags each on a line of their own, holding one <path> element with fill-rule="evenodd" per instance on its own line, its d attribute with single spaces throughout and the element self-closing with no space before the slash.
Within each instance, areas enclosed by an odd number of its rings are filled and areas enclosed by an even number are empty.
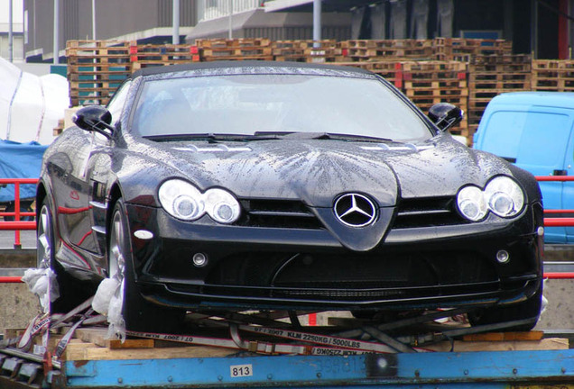
<svg viewBox="0 0 574 389">
<path fill-rule="evenodd" d="M 356 73 L 357 75 L 373 75 L 372 72 L 354 67 L 344 67 L 339 65 L 325 65 L 305 62 L 280 62 L 280 61 L 259 61 L 259 60 L 239 60 L 239 61 L 213 61 L 213 62 L 192 62 L 180 65 L 170 65 L 152 68 L 142 68 L 134 72 L 132 77 L 139 76 L 152 76 L 174 72 L 185 72 L 193 70 L 205 69 L 221 69 L 221 68 L 249 68 L 253 71 L 254 68 L 301 68 L 301 69 L 315 69 L 315 70 L 342 70 L 346 72 Z"/>
</svg>

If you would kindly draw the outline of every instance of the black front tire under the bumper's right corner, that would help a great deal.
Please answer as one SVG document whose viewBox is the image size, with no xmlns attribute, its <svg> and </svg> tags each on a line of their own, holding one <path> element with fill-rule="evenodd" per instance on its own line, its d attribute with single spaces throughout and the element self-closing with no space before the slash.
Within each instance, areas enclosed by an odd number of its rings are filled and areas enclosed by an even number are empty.
<svg viewBox="0 0 574 389">
<path fill-rule="evenodd" d="M 501 329 L 502 331 L 529 331 L 532 330 L 540 317 L 542 309 L 542 280 L 540 287 L 531 298 L 523 303 L 515 303 L 507 306 L 486 308 L 478 312 L 468 314 L 468 321 L 474 326 L 497 324 L 505 321 L 521 321 L 531 319 L 528 323 Z"/>
</svg>

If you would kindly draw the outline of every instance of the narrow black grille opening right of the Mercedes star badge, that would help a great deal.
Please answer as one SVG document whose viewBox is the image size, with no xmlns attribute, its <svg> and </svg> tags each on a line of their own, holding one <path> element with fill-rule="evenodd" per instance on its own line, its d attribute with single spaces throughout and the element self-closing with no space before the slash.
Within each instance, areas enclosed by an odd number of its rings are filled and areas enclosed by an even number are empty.
<svg viewBox="0 0 574 389">
<path fill-rule="evenodd" d="M 468 221 L 457 213 L 453 196 L 423 197 L 399 201 L 393 229 L 457 224 L 468 224 Z"/>
</svg>

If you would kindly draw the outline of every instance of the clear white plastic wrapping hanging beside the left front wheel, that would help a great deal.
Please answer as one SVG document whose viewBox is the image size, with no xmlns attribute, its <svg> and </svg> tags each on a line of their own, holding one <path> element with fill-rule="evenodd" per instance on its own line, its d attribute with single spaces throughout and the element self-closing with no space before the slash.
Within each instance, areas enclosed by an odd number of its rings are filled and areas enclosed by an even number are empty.
<svg viewBox="0 0 574 389">
<path fill-rule="evenodd" d="M 97 286 L 97 292 L 92 301 L 94 311 L 107 316 L 108 339 L 125 340 L 125 321 L 122 316 L 124 282 L 124 280 L 120 282 L 118 277 L 104 278 Z"/>
</svg>

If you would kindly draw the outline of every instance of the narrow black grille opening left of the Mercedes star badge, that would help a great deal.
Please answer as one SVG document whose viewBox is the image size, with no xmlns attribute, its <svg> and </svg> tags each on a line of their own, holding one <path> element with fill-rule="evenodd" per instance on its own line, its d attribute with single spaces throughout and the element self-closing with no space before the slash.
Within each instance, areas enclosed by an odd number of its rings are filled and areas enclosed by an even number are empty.
<svg viewBox="0 0 574 389">
<path fill-rule="evenodd" d="M 250 199 L 240 201 L 243 216 L 236 225 L 286 229 L 319 230 L 321 223 L 300 201 Z"/>
</svg>

